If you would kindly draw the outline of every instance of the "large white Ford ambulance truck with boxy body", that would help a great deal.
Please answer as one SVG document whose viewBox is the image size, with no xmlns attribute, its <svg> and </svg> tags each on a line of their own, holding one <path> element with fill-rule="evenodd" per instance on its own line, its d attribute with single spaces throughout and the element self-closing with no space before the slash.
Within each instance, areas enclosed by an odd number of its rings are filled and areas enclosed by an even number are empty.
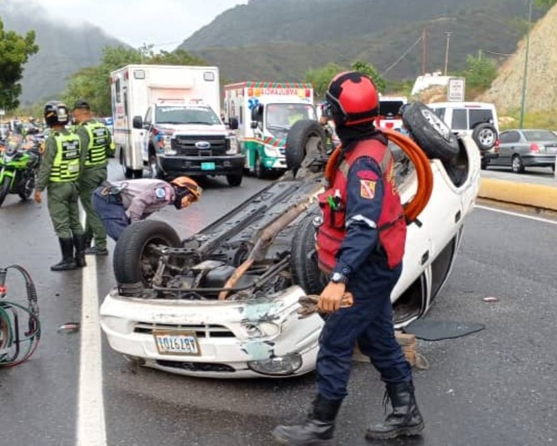
<svg viewBox="0 0 557 446">
<path fill-rule="evenodd" d="M 244 156 L 220 119 L 217 67 L 127 65 L 111 73 L 114 141 L 127 178 L 227 176 Z"/>
</svg>

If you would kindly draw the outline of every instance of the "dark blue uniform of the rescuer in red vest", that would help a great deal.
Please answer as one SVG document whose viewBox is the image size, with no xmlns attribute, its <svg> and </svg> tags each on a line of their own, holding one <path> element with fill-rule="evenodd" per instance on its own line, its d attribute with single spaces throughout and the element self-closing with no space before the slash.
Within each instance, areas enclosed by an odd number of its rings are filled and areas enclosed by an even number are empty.
<svg viewBox="0 0 557 446">
<path fill-rule="evenodd" d="M 375 183 L 374 188 L 365 187 L 370 180 Z M 387 257 L 378 247 L 377 223 L 383 191 L 377 163 L 367 156 L 357 159 L 348 173 L 347 230 L 334 268 L 348 277 L 346 289 L 354 294 L 354 305 L 330 314 L 319 339 L 317 388 L 327 399 L 347 395 L 356 342 L 384 382 L 411 381 L 410 364 L 394 338 L 390 300 L 402 264 L 389 269 Z"/>
</svg>

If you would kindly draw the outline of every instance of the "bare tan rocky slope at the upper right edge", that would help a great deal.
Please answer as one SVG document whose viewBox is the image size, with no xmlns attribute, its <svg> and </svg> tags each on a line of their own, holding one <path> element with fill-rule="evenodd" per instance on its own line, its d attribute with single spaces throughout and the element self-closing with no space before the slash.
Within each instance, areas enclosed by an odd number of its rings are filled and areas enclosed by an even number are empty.
<svg viewBox="0 0 557 446">
<path fill-rule="evenodd" d="M 529 112 L 557 110 L 557 5 L 530 32 L 530 54 L 526 76 L 525 109 Z M 516 54 L 499 69 L 491 88 L 478 99 L 495 102 L 510 111 L 521 106 L 526 39 Z"/>
</svg>

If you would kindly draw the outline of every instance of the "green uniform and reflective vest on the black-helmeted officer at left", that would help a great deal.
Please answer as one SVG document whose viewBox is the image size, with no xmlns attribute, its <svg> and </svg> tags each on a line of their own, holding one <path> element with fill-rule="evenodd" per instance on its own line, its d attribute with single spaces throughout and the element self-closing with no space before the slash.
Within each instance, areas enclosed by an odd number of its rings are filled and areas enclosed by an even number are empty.
<svg viewBox="0 0 557 446">
<path fill-rule="evenodd" d="M 45 142 L 36 190 L 48 189 L 48 211 L 60 238 L 83 234 L 79 221 L 80 141 L 67 130 L 53 131 Z"/>
</svg>

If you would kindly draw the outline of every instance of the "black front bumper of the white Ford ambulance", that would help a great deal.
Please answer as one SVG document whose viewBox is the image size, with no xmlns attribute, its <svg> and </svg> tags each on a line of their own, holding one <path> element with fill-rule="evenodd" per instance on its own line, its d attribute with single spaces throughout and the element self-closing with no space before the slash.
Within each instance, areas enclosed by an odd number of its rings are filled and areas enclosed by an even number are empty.
<svg viewBox="0 0 557 446">
<path fill-rule="evenodd" d="M 240 175 L 245 156 L 179 156 L 158 155 L 161 171 L 166 176 Z"/>
</svg>

